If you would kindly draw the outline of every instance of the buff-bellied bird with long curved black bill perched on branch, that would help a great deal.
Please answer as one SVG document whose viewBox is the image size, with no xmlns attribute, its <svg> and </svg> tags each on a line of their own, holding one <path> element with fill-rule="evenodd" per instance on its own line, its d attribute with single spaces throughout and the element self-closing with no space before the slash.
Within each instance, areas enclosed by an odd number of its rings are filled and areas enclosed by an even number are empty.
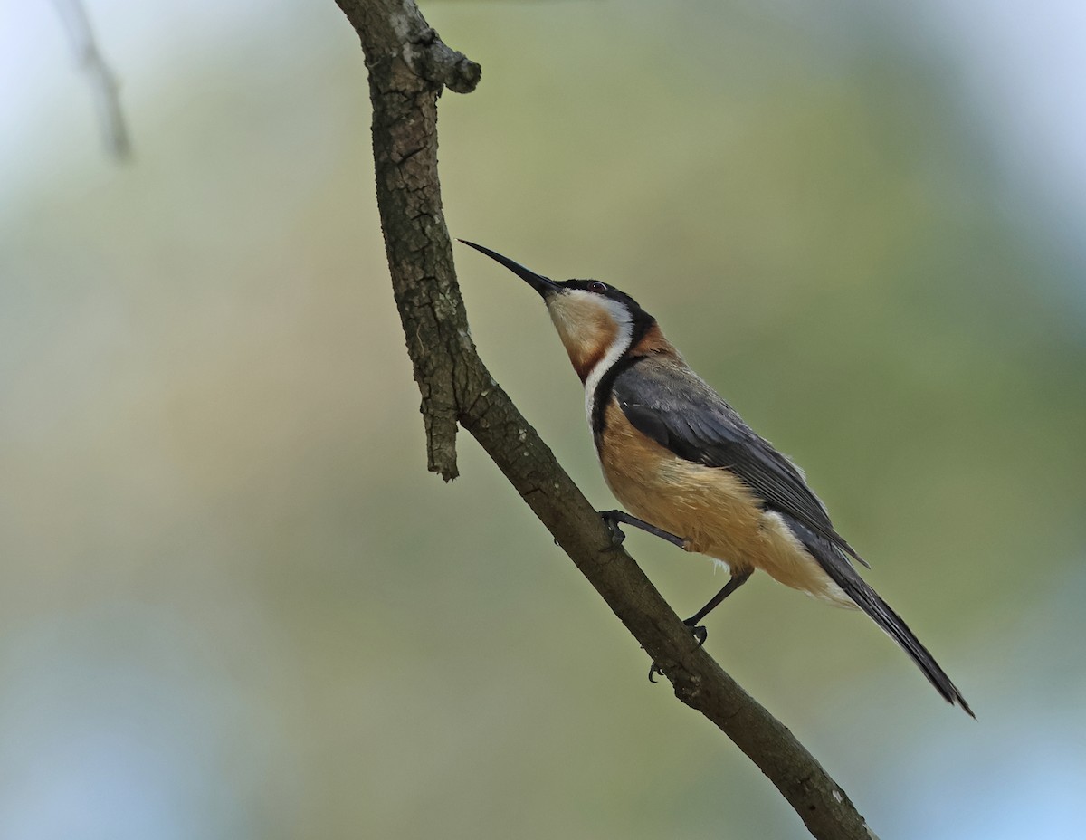
<svg viewBox="0 0 1086 840">
<path fill-rule="evenodd" d="M 702 620 L 759 569 L 836 606 L 859 609 L 951 705 L 969 703 L 905 620 L 860 576 L 867 562 L 830 521 L 804 473 L 686 364 L 629 294 L 593 279 L 552 280 L 483 246 L 543 298 L 584 385 L 584 410 L 604 479 L 627 511 L 602 514 L 727 565 L 728 584 L 687 618 Z M 654 663 L 649 679 L 661 674 Z"/>
</svg>

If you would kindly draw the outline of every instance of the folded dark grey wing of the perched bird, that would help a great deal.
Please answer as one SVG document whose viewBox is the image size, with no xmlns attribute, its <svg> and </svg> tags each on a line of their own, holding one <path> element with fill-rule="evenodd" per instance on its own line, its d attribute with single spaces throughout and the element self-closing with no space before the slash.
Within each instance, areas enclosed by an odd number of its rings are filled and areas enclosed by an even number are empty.
<svg viewBox="0 0 1086 840">
<path fill-rule="evenodd" d="M 685 461 L 734 473 L 766 506 L 868 564 L 834 530 L 822 502 L 799 469 L 690 368 L 644 358 L 615 377 L 613 393 L 641 434 Z"/>
</svg>

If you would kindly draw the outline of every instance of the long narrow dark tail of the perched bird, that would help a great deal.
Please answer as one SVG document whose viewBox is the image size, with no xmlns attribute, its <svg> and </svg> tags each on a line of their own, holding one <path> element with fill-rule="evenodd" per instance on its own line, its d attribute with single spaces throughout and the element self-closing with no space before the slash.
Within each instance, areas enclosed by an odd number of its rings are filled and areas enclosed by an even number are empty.
<svg viewBox="0 0 1086 840">
<path fill-rule="evenodd" d="M 901 649 L 917 663 L 917 666 L 924 673 L 929 681 L 935 686 L 935 690 L 948 703 L 951 705 L 957 703 L 970 717 L 975 718 L 976 715 L 969 707 L 965 698 L 961 695 L 957 686 L 950 681 L 950 677 L 946 675 L 946 672 L 939 667 L 935 657 L 927 652 L 927 648 L 920 643 L 920 639 L 909 629 L 909 626 L 902 620 L 901 616 L 895 613 L 889 604 L 883 601 L 879 597 L 879 593 L 868 586 L 867 581 L 860 577 L 859 573 L 853 567 L 845 555 L 829 540 L 818 536 L 795 519 L 788 517 L 787 524 L 799 541 L 807 547 L 807 550 L 819 562 L 819 565 L 833 578 L 833 581 L 856 602 L 857 606 L 871 616 L 874 623 L 882 627 L 894 641 L 901 645 Z"/>
</svg>

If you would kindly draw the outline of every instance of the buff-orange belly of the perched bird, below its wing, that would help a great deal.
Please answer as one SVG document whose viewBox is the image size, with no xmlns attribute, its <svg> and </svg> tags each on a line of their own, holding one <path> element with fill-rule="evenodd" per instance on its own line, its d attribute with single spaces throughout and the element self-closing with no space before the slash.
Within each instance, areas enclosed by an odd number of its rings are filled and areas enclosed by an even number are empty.
<svg viewBox="0 0 1086 840">
<path fill-rule="evenodd" d="M 634 516 L 686 541 L 686 550 L 757 568 L 838 606 L 856 604 L 833 582 L 775 513 L 727 469 L 684 461 L 642 435 L 611 403 L 599 451 L 611 492 Z"/>
</svg>

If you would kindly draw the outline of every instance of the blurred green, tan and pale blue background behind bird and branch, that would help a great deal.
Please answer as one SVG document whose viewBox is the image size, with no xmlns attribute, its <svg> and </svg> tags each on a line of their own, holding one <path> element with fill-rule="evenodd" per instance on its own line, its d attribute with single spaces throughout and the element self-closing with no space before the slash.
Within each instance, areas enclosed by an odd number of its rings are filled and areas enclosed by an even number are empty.
<svg viewBox="0 0 1086 840">
<path fill-rule="evenodd" d="M 425 471 L 336 5 L 0 7 L 0 837 L 801 838 L 496 468 Z M 976 710 L 755 578 L 709 648 L 883 838 L 1077 838 L 1086 12 L 431 2 L 454 236 L 636 297 Z M 601 507 L 534 294 L 457 264 Z M 640 534 L 679 613 L 721 585 Z"/>
</svg>

